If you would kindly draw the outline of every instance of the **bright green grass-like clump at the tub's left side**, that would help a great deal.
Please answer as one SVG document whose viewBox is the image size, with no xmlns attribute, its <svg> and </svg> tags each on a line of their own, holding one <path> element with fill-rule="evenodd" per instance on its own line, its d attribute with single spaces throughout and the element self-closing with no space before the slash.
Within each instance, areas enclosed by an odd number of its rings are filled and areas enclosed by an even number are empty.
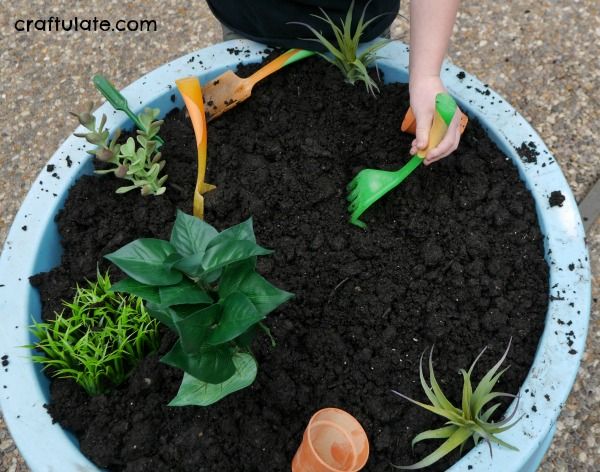
<svg viewBox="0 0 600 472">
<path fill-rule="evenodd" d="M 37 342 L 27 346 L 53 377 L 70 378 L 89 395 L 105 393 L 121 384 L 137 363 L 158 348 L 158 322 L 140 297 L 111 292 L 108 276 L 77 286 L 71 302 L 52 321 L 34 324 Z"/>
</svg>

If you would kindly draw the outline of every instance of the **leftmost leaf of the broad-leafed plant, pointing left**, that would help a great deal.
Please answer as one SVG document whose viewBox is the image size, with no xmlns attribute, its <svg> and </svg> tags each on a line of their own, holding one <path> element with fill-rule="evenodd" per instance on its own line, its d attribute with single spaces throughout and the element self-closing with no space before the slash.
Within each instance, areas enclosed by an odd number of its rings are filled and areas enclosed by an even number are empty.
<svg viewBox="0 0 600 472">
<path fill-rule="evenodd" d="M 175 248 L 166 241 L 137 239 L 105 257 L 138 282 L 147 285 L 174 285 L 183 274 L 165 265 Z"/>
</svg>

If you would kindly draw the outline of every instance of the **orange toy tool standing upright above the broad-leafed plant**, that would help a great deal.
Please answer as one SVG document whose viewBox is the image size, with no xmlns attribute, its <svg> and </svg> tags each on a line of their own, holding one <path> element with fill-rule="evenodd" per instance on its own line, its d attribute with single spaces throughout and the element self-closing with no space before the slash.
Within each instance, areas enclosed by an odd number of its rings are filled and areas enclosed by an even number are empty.
<svg viewBox="0 0 600 472">
<path fill-rule="evenodd" d="M 198 177 L 194 190 L 194 216 L 204 218 L 203 195 L 216 187 L 204 182 L 206 175 L 206 117 L 204 116 L 204 104 L 202 102 L 202 89 L 196 77 L 187 77 L 176 80 L 177 88 L 183 97 L 185 106 L 192 120 L 194 134 L 196 135 L 196 146 L 198 148 Z"/>
</svg>

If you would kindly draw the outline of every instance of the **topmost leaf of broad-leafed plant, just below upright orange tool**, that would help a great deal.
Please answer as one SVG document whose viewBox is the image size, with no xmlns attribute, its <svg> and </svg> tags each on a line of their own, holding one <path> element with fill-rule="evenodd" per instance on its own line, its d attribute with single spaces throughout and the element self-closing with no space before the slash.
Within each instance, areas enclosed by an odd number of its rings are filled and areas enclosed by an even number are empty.
<svg viewBox="0 0 600 472">
<path fill-rule="evenodd" d="M 171 231 L 171 244 L 183 256 L 203 256 L 206 246 L 219 233 L 200 218 L 177 210 L 177 218 Z"/>
</svg>

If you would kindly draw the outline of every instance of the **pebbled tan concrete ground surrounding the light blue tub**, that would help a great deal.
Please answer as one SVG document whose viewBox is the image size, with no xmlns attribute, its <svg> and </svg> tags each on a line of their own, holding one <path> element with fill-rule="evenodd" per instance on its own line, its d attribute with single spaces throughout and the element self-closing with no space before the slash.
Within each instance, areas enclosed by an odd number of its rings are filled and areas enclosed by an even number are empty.
<svg viewBox="0 0 600 472">
<path fill-rule="evenodd" d="M 67 112 L 98 102 L 91 76 L 117 86 L 220 40 L 201 0 L 0 3 L 0 242 L 46 160 L 75 128 Z M 408 2 L 403 2 L 408 3 Z M 403 6 L 402 13 L 407 14 Z M 15 21 L 58 16 L 156 20 L 156 32 L 17 32 Z M 395 38 L 406 39 L 398 18 Z M 600 174 L 600 4 L 596 0 L 463 2 L 451 59 L 504 95 L 538 130 L 578 201 Z M 588 234 L 600 295 L 600 224 Z M 593 304 L 578 381 L 542 471 L 592 471 L 600 464 L 600 312 Z M 596 373 L 596 375 L 593 375 Z M 0 416 L 0 472 L 28 470 Z"/>
</svg>

